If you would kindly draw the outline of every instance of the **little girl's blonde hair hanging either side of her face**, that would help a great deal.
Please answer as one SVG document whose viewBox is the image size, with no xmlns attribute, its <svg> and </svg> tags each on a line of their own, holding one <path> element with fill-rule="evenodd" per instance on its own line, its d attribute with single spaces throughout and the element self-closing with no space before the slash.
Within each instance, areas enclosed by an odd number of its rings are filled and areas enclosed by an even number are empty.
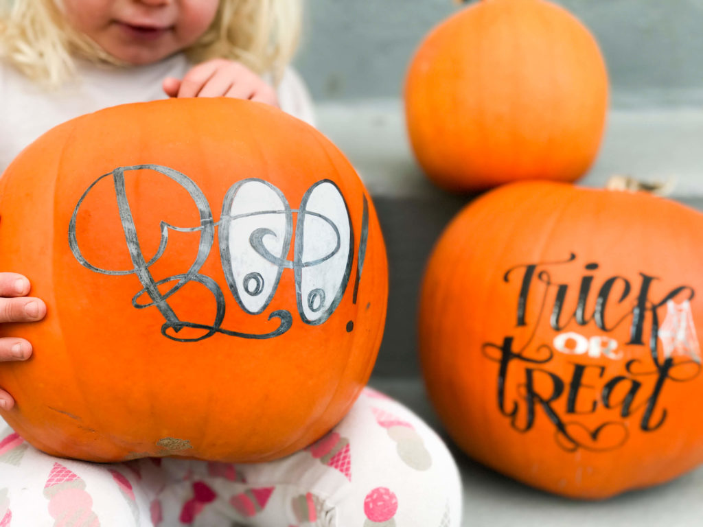
<svg viewBox="0 0 703 527">
<path fill-rule="evenodd" d="M 217 14 L 186 54 L 193 62 L 238 60 L 280 79 L 298 45 L 302 0 L 220 0 Z M 0 0 L 0 58 L 30 79 L 56 87 L 75 71 L 73 58 L 125 65 L 66 22 L 57 0 Z"/>
</svg>

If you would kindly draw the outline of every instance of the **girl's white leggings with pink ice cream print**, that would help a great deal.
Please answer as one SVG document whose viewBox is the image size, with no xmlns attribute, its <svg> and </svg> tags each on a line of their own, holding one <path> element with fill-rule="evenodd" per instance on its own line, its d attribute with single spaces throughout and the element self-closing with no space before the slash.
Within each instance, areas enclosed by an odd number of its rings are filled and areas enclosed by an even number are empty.
<svg viewBox="0 0 703 527">
<path fill-rule="evenodd" d="M 259 464 L 63 460 L 0 420 L 0 527 L 458 527 L 460 515 L 444 443 L 373 389 L 316 443 Z"/>
</svg>

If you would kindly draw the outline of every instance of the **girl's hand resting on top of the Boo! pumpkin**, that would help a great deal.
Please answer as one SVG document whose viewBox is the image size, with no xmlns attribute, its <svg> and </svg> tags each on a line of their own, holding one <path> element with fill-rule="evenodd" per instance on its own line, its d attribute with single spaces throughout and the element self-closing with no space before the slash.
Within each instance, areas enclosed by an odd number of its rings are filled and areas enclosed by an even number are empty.
<svg viewBox="0 0 703 527">
<path fill-rule="evenodd" d="M 192 67 L 183 79 L 167 77 L 162 86 L 169 97 L 233 97 L 278 106 L 276 90 L 244 65 L 224 58 Z"/>
</svg>

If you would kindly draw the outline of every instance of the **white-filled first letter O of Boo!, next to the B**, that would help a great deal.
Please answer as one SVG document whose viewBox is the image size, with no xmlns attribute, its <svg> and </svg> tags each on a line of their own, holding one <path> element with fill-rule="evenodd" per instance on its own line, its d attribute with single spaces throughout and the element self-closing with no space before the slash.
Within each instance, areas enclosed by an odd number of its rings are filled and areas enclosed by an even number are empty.
<svg viewBox="0 0 703 527">
<path fill-rule="evenodd" d="M 229 188 L 222 204 L 219 247 L 227 285 L 240 307 L 262 313 L 287 266 L 292 214 L 278 188 L 250 178 Z"/>
</svg>

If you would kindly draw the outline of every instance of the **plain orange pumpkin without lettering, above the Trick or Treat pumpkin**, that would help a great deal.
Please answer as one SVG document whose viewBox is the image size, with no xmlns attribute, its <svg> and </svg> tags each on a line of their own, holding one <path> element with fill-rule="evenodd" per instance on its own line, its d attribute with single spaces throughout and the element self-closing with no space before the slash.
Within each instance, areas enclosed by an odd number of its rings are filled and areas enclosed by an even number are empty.
<svg viewBox="0 0 703 527">
<path fill-rule="evenodd" d="M 608 82 L 598 44 L 543 0 L 482 0 L 427 35 L 405 84 L 408 134 L 432 181 L 465 191 L 574 181 L 595 159 Z"/>
</svg>

